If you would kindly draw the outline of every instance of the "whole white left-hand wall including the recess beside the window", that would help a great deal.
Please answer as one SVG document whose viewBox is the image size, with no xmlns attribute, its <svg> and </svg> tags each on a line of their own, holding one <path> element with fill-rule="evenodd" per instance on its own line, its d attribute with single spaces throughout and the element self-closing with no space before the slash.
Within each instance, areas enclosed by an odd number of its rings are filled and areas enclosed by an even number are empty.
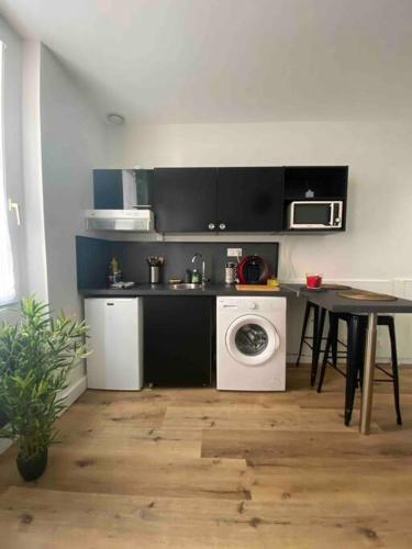
<svg viewBox="0 0 412 549">
<path fill-rule="evenodd" d="M 20 290 L 81 318 L 75 235 L 83 232 L 82 212 L 92 203 L 92 169 L 104 164 L 107 126 L 46 47 L 22 41 L 1 18 L 0 40 L 7 44 L 5 177 L 23 206 Z M 14 320 L 4 310 L 0 315 Z M 67 404 L 85 389 L 80 366 L 65 392 Z M 0 441 L 0 452 L 9 445 Z"/>
</svg>

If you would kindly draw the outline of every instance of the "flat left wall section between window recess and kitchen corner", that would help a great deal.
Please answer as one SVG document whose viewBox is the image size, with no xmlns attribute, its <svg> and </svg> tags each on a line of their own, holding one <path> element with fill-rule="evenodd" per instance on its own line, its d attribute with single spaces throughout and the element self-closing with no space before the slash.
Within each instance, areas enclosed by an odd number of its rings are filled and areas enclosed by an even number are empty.
<svg viewBox="0 0 412 549">
<path fill-rule="evenodd" d="M 75 236 L 92 206 L 92 169 L 105 163 L 107 126 L 54 54 L 41 47 L 41 135 L 48 298 L 52 309 L 82 315 Z M 73 374 L 73 383 L 82 376 Z"/>
</svg>

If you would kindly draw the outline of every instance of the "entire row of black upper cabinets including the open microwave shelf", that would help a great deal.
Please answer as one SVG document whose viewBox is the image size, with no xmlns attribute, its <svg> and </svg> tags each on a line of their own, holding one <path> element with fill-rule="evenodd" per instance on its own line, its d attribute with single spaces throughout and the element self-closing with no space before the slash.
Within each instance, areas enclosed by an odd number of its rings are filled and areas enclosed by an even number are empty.
<svg viewBox="0 0 412 549">
<path fill-rule="evenodd" d="M 159 233 L 334 233 L 347 181 L 347 166 L 98 169 L 94 208 L 149 205 Z M 342 202 L 342 227 L 289 228 L 294 201 Z"/>
</svg>

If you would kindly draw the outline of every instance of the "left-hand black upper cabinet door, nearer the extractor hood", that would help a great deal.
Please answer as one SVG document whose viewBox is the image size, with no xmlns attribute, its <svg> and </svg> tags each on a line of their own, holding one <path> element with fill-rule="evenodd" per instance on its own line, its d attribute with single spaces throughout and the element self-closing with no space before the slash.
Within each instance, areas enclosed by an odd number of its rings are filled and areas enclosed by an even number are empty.
<svg viewBox="0 0 412 549">
<path fill-rule="evenodd" d="M 215 168 L 155 168 L 153 205 L 160 233 L 215 231 Z"/>
</svg>

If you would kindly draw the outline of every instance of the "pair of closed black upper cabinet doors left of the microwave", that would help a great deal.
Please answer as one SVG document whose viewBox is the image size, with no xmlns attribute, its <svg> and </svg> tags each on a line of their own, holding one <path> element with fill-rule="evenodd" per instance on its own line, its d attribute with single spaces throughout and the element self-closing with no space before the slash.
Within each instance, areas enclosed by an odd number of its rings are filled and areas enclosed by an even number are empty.
<svg viewBox="0 0 412 549">
<path fill-rule="evenodd" d="M 282 227 L 282 168 L 157 168 L 160 233 L 275 232 Z"/>
</svg>

